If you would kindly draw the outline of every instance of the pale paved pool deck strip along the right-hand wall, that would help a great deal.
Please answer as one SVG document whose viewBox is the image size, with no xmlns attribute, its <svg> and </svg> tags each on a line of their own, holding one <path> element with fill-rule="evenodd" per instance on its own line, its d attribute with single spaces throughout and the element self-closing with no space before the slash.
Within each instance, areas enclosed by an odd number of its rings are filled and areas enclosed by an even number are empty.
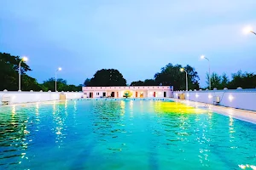
<svg viewBox="0 0 256 170">
<path fill-rule="evenodd" d="M 240 109 L 235 109 L 231 107 L 224 107 L 221 105 L 210 105 L 206 103 L 200 103 L 200 102 L 189 101 L 184 99 L 172 99 L 172 100 L 179 103 L 183 103 L 185 105 L 190 105 L 190 106 L 204 109 L 207 111 L 216 112 L 224 116 L 232 116 L 233 118 L 239 119 L 241 121 L 251 122 L 253 124 L 256 124 L 256 111 L 246 111 L 246 110 L 240 110 Z"/>
</svg>

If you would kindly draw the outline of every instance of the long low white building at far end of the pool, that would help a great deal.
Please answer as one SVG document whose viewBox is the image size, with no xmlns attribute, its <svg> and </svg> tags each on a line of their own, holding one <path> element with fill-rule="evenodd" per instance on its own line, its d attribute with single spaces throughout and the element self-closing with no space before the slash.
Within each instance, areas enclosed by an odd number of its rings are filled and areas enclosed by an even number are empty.
<svg viewBox="0 0 256 170">
<path fill-rule="evenodd" d="M 125 86 L 125 87 L 83 87 L 84 98 L 170 98 L 170 86 Z"/>
</svg>

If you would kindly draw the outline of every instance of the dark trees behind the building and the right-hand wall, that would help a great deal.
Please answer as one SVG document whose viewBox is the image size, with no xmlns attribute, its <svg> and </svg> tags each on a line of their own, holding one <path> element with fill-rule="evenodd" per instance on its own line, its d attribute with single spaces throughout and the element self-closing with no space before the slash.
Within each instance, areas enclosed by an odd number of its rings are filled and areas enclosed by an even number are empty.
<svg viewBox="0 0 256 170">
<path fill-rule="evenodd" d="M 189 89 L 199 89 L 199 76 L 195 68 L 190 65 L 172 65 L 169 63 L 161 68 L 160 72 L 154 74 L 154 78 L 146 79 L 144 81 L 138 80 L 126 84 L 123 75 L 114 69 L 102 69 L 96 71 L 92 78 L 87 78 L 84 81 L 84 86 L 87 87 L 104 87 L 104 86 L 173 86 L 174 90 L 186 89 L 185 73 L 181 71 L 183 68 L 188 73 L 188 86 Z M 254 73 L 238 71 L 231 75 L 231 79 L 224 73 L 218 75 L 216 72 L 211 74 L 212 88 L 236 89 L 236 88 L 256 88 L 256 75 Z M 207 87 L 209 88 L 209 75 L 207 74 Z M 206 89 L 202 88 L 202 89 Z"/>
</svg>

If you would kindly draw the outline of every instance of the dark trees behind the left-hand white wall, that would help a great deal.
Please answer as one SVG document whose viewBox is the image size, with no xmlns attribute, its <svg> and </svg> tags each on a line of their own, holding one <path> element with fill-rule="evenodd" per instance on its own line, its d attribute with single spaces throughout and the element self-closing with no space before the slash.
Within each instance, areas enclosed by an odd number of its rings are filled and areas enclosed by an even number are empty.
<svg viewBox="0 0 256 170">
<path fill-rule="evenodd" d="M 19 63 L 20 57 L 11 54 L 0 53 L 0 91 L 7 89 L 17 91 L 19 86 Z M 20 63 L 21 91 L 55 91 L 55 78 L 49 78 L 43 83 L 29 77 L 26 72 L 32 69 L 25 62 Z M 75 86 L 67 84 L 66 80 L 57 79 L 57 91 L 81 91 L 82 85 Z"/>
</svg>

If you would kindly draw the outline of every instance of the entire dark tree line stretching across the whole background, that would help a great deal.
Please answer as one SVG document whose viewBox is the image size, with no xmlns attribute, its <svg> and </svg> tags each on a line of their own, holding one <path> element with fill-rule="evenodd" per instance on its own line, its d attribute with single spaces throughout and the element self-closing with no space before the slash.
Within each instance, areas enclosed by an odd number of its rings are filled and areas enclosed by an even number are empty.
<svg viewBox="0 0 256 170">
<path fill-rule="evenodd" d="M 0 53 L 0 90 L 9 91 L 18 90 L 20 57 L 11 54 Z M 26 72 L 32 69 L 21 61 L 21 90 L 28 91 L 55 91 L 55 78 L 51 77 L 43 83 L 26 75 Z M 173 86 L 174 90 L 184 90 L 186 88 L 185 73 L 181 72 L 183 68 L 188 73 L 189 89 L 199 89 L 199 76 L 195 68 L 190 65 L 172 65 L 167 64 L 159 72 L 154 74 L 154 78 L 138 80 L 127 84 L 125 77 L 116 69 L 102 69 L 96 71 L 93 77 L 87 78 L 84 84 L 79 86 L 67 84 L 67 80 L 57 79 L 57 91 L 81 91 L 82 86 L 87 87 L 108 87 L 108 86 Z M 209 75 L 207 74 L 207 86 L 209 84 Z M 256 75 L 250 72 L 238 71 L 231 75 L 231 79 L 226 74 L 218 75 L 216 72 L 211 74 L 212 88 L 256 88 Z M 206 87 L 208 88 L 208 87 Z"/>
</svg>

